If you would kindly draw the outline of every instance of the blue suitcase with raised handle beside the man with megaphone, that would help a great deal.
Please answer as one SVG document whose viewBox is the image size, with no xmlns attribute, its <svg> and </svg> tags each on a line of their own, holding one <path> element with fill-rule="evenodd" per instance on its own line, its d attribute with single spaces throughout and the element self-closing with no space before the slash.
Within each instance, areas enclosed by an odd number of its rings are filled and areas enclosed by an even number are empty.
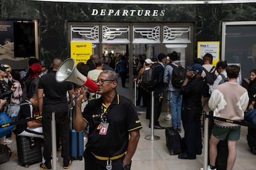
<svg viewBox="0 0 256 170">
<path fill-rule="evenodd" d="M 76 98 L 75 98 L 76 99 Z M 70 105 L 70 160 L 83 160 L 83 131 L 76 132 L 73 128 L 72 116 L 75 114 L 76 100 L 74 106 Z"/>
</svg>

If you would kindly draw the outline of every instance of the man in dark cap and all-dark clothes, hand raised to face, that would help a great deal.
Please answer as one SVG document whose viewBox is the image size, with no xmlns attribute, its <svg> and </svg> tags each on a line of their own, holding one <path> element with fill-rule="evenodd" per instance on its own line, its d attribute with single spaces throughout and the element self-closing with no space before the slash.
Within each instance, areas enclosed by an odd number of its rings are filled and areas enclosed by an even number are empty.
<svg viewBox="0 0 256 170">
<path fill-rule="evenodd" d="M 187 150 L 178 156 L 179 159 L 193 160 L 202 154 L 202 136 L 200 118 L 202 115 L 203 71 L 202 65 L 195 63 L 187 67 L 186 79 L 181 87 L 182 124 L 184 127 L 184 142 Z"/>
</svg>

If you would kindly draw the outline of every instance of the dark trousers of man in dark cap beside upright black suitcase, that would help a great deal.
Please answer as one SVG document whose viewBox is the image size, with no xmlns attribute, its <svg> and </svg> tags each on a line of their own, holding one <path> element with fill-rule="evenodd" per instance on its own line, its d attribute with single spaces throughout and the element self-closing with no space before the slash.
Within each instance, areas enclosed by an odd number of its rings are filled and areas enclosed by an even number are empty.
<svg viewBox="0 0 256 170">
<path fill-rule="evenodd" d="M 202 134 L 200 121 L 194 123 L 182 122 L 184 127 L 184 140 L 187 145 L 187 155 L 196 158 L 197 153 L 202 152 Z"/>
</svg>

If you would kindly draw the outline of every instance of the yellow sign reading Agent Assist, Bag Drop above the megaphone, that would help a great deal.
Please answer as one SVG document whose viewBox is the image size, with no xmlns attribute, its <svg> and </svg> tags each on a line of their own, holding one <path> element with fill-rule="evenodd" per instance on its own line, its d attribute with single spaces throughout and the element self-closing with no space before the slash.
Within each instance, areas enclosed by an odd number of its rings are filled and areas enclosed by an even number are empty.
<svg viewBox="0 0 256 170">
<path fill-rule="evenodd" d="M 70 42 L 70 57 L 79 62 L 87 63 L 92 55 L 92 42 Z"/>
</svg>

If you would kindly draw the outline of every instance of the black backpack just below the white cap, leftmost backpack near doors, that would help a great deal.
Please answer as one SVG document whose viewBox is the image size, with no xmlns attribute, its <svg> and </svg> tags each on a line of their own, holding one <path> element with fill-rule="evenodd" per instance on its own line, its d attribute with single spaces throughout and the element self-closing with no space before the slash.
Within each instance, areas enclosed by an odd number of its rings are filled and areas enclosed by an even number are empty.
<svg viewBox="0 0 256 170">
<path fill-rule="evenodd" d="M 157 67 L 161 67 L 161 65 L 155 65 L 152 66 L 150 69 L 143 71 L 139 86 L 142 87 L 142 89 L 144 89 L 145 91 L 152 91 L 153 81 L 155 81 L 153 75 L 155 74 L 154 71 Z"/>
</svg>

